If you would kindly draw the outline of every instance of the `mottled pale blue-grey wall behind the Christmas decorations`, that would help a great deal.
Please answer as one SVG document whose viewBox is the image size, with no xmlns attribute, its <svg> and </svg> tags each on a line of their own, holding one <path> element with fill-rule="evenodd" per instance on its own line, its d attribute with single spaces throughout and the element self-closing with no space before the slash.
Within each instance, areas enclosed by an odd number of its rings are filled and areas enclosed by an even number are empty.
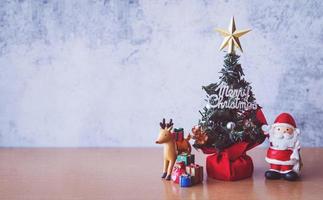
<svg viewBox="0 0 323 200">
<path fill-rule="evenodd" d="M 322 1 L 0 1 L 0 146 L 155 146 L 190 129 L 218 80 L 215 27 L 241 39 L 269 122 L 291 112 L 323 145 Z"/>
</svg>

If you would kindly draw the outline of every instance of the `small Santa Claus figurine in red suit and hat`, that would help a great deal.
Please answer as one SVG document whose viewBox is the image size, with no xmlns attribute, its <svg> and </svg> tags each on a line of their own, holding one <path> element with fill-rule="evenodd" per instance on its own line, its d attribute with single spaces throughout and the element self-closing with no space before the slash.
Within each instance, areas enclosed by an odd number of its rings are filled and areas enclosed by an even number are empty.
<svg viewBox="0 0 323 200">
<path fill-rule="evenodd" d="M 273 125 L 263 127 L 263 130 L 270 142 L 266 156 L 270 169 L 266 171 L 265 177 L 289 181 L 298 179 L 301 167 L 300 131 L 293 117 L 288 113 L 281 113 Z"/>
</svg>

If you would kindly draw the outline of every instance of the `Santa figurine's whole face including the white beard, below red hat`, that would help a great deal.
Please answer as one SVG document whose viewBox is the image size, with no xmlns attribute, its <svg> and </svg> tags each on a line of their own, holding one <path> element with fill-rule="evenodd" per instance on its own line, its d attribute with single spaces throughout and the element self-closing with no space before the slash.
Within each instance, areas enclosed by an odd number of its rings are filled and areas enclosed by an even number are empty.
<svg viewBox="0 0 323 200">
<path fill-rule="evenodd" d="M 269 141 L 276 149 L 293 148 L 296 142 L 295 129 L 286 125 L 273 125 L 269 131 Z"/>
</svg>

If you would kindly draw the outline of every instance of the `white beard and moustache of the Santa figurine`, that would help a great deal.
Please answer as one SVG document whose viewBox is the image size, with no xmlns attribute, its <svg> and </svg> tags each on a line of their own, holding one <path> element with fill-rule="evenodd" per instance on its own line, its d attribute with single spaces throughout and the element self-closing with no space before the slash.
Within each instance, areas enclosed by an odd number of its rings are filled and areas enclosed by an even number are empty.
<svg viewBox="0 0 323 200">
<path fill-rule="evenodd" d="M 288 133 L 275 133 L 274 130 L 269 131 L 269 141 L 272 144 L 272 147 L 275 149 L 285 150 L 288 148 L 294 148 L 297 141 L 297 134 Z"/>
</svg>

